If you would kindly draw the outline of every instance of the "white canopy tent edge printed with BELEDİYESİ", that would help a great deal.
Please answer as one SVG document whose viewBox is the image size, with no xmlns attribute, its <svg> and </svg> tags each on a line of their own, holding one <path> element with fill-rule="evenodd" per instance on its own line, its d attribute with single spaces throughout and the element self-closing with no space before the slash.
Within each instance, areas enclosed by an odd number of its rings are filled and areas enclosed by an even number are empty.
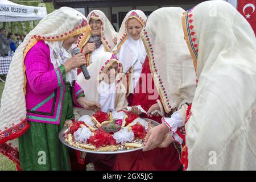
<svg viewBox="0 0 256 182">
<path fill-rule="evenodd" d="M 46 7 L 24 6 L 7 0 L 0 0 L 0 22 L 39 20 L 46 15 Z"/>
</svg>

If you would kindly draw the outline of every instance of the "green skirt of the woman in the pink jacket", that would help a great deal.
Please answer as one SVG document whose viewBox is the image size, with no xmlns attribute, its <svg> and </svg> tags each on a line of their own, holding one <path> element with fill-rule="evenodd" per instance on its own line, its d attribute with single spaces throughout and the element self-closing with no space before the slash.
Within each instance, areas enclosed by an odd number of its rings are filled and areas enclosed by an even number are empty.
<svg viewBox="0 0 256 182">
<path fill-rule="evenodd" d="M 59 140 L 65 121 L 73 119 L 69 86 L 65 85 L 60 125 L 30 122 L 30 129 L 19 137 L 20 168 L 28 170 L 70 170 L 68 147 Z"/>
</svg>

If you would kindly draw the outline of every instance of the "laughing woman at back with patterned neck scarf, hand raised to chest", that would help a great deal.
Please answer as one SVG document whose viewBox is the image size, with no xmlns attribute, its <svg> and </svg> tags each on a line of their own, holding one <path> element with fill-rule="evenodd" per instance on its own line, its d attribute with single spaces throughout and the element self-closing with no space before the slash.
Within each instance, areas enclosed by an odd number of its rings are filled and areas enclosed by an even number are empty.
<svg viewBox="0 0 256 182">
<path fill-rule="evenodd" d="M 96 60 L 99 53 L 111 52 L 115 46 L 117 32 L 100 10 L 91 11 L 87 19 L 90 25 L 90 34 L 83 34 L 77 44 L 85 55 L 88 67 Z"/>
</svg>

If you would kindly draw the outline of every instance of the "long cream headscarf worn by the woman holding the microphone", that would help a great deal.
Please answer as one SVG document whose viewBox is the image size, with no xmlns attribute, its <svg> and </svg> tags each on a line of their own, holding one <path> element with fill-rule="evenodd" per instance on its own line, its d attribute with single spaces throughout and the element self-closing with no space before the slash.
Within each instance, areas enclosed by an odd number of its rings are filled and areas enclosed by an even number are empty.
<svg viewBox="0 0 256 182">
<path fill-rule="evenodd" d="M 28 129 L 25 100 L 26 76 L 23 63 L 27 52 L 38 40 L 57 43 L 82 32 L 89 32 L 89 24 L 85 16 L 72 8 L 61 7 L 43 18 L 16 49 L 2 93 L 0 144 L 19 137 Z M 9 143 L 13 143 L 12 147 L 18 147 L 17 141 L 15 139 Z"/>
</svg>

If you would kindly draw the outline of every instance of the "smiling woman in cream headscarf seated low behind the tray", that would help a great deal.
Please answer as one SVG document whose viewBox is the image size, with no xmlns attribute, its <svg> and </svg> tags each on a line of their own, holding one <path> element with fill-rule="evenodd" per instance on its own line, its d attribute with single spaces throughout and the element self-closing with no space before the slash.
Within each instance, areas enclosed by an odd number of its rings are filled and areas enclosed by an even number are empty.
<svg viewBox="0 0 256 182">
<path fill-rule="evenodd" d="M 85 100 L 99 102 L 102 111 L 108 112 L 125 109 L 126 89 L 122 84 L 122 64 L 117 57 L 110 52 L 102 52 L 96 60 L 89 65 L 88 72 L 90 79 L 85 80 L 82 73 L 77 76 L 77 82 L 85 91 Z M 92 115 L 93 112 L 84 108 L 75 107 L 76 119 L 83 115 Z M 115 155 L 110 154 L 86 154 L 86 162 L 94 164 L 96 170 L 112 170 Z"/>
</svg>

